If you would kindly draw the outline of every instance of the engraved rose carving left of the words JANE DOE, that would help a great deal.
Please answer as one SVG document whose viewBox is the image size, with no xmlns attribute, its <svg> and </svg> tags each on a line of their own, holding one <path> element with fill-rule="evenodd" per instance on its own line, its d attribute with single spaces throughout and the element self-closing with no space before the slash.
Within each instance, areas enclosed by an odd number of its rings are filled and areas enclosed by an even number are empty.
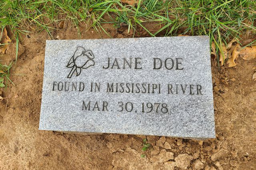
<svg viewBox="0 0 256 170">
<path fill-rule="evenodd" d="M 68 68 L 72 68 L 68 74 L 68 78 L 71 78 L 74 72 L 76 76 L 79 76 L 81 74 L 82 68 L 94 66 L 93 59 L 94 55 L 91 50 L 86 51 L 84 47 L 76 47 L 74 55 L 71 57 L 68 65 L 66 66 Z"/>
</svg>

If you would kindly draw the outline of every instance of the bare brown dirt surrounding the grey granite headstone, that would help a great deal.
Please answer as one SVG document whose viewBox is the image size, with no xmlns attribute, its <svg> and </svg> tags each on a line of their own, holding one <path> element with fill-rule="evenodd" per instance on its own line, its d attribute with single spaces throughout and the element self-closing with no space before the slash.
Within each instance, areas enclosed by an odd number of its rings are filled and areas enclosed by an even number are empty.
<svg viewBox="0 0 256 170">
<path fill-rule="evenodd" d="M 127 33 L 127 27 L 103 27 L 112 37 L 133 35 Z M 154 29 L 154 24 L 146 27 Z M 94 29 L 85 31 L 84 25 L 80 30 L 81 37 L 76 27 L 65 23 L 64 29 L 54 31 L 53 36 L 108 38 Z M 135 34 L 147 36 L 140 28 Z M 239 58 L 234 68 L 218 69 L 212 59 L 216 139 L 66 134 L 38 130 L 46 39 L 45 31 L 20 38 L 18 60 L 10 77 L 15 86 L 9 84 L 3 89 L 2 96 L 9 98 L 0 102 L 0 169 L 256 169 L 256 82 L 251 70 L 255 60 Z M 2 63 L 14 59 L 15 42 L 0 55 Z M 146 152 L 141 150 L 144 138 L 152 145 Z"/>
</svg>

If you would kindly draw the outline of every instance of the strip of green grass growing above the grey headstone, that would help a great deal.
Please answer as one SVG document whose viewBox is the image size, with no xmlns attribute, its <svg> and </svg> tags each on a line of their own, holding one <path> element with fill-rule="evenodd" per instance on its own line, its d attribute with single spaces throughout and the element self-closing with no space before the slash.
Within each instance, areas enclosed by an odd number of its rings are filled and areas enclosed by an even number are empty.
<svg viewBox="0 0 256 170">
<path fill-rule="evenodd" d="M 44 30 L 53 38 L 51 33 L 56 28 L 52 25 L 61 20 L 71 20 L 75 25 L 82 21 L 90 22 L 90 27 L 105 33 L 102 23 L 112 23 L 115 27 L 126 25 L 133 35 L 138 27 L 152 37 L 209 35 L 210 43 L 216 44 L 217 53 L 223 53 L 222 43 L 227 44 L 233 38 L 239 41 L 239 36 L 246 31 L 256 33 L 256 2 L 138 0 L 138 5 L 132 6 L 120 0 L 0 1 L 0 27 L 8 25 L 17 40 L 20 34 L 28 33 L 28 27 L 35 32 Z M 159 30 L 150 32 L 144 24 L 148 21 L 158 24 Z"/>
</svg>

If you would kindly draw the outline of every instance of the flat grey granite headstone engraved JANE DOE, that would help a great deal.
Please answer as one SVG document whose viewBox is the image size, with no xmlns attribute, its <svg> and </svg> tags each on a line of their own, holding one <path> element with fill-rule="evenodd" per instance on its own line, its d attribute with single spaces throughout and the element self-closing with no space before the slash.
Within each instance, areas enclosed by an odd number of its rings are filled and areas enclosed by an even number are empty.
<svg viewBox="0 0 256 170">
<path fill-rule="evenodd" d="M 208 36 L 46 41 L 40 130 L 215 138 Z"/>
</svg>

